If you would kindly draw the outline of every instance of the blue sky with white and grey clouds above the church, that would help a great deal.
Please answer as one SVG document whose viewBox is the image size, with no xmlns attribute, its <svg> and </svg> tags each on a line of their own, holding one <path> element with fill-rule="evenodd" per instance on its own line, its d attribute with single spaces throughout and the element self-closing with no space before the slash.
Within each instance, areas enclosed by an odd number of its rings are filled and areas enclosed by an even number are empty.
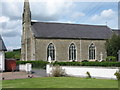
<svg viewBox="0 0 120 90">
<path fill-rule="evenodd" d="M 0 1 L 0 34 L 8 50 L 21 48 L 23 1 Z M 118 0 L 29 1 L 32 21 L 107 25 L 118 29 Z"/>
</svg>

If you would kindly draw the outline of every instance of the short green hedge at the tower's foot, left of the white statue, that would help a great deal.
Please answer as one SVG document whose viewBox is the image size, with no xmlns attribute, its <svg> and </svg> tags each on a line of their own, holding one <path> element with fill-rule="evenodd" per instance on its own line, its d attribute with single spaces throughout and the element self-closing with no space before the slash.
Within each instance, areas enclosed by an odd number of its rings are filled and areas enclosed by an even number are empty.
<svg viewBox="0 0 120 90">
<path fill-rule="evenodd" d="M 47 61 L 17 61 L 17 65 L 31 63 L 33 68 L 46 68 Z"/>
</svg>

